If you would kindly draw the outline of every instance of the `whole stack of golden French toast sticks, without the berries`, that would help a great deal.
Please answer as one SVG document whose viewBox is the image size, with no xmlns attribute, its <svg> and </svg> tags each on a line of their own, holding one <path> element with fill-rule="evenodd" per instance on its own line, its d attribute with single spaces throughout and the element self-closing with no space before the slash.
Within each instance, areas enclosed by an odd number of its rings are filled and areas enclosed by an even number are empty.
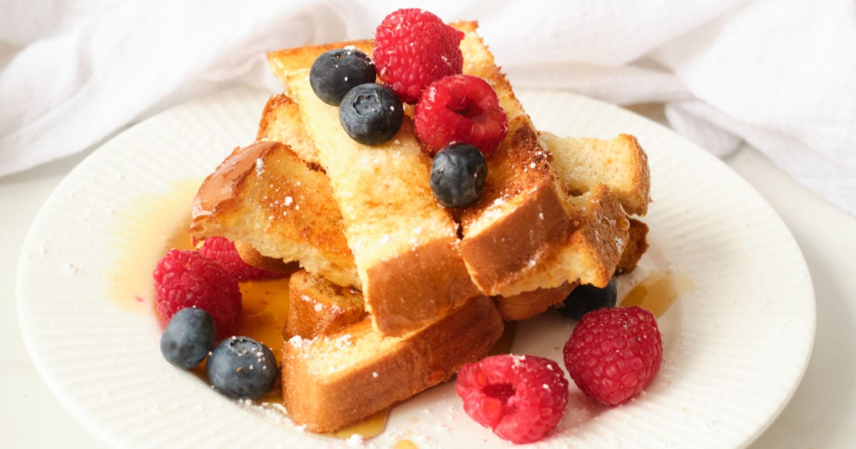
<svg viewBox="0 0 856 449">
<path fill-rule="evenodd" d="M 370 40 L 271 52 L 285 92 L 270 97 L 257 141 L 194 200 L 195 238 L 226 237 L 248 263 L 296 269 L 282 399 L 308 430 L 342 428 L 449 380 L 505 322 L 561 304 L 578 284 L 606 286 L 647 247 L 647 227 L 629 217 L 650 202 L 636 139 L 538 133 L 477 23 L 453 27 L 465 34 L 464 74 L 487 80 L 508 115 L 475 204 L 437 203 L 407 116 L 393 139 L 361 145 L 312 92 L 317 56 L 347 45 L 372 55 Z"/>
</svg>

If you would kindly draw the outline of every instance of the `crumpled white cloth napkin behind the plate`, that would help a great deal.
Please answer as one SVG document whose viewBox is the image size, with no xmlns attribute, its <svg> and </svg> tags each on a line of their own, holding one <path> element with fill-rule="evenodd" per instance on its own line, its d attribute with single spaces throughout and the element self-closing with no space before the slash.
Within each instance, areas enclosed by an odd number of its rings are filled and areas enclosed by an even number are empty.
<svg viewBox="0 0 856 449">
<path fill-rule="evenodd" d="M 62 7 L 59 5 L 62 4 Z M 98 143 L 236 83 L 281 89 L 265 51 L 371 37 L 399 2 L 6 0 L 0 5 L 0 175 Z M 741 140 L 856 215 L 852 0 L 457 0 L 516 86 L 665 103 L 722 156 Z"/>
</svg>

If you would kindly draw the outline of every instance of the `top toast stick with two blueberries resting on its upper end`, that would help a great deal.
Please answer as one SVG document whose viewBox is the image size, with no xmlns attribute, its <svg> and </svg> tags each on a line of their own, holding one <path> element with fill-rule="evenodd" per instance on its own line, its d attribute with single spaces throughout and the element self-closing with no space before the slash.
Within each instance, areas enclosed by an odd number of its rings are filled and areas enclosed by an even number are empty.
<svg viewBox="0 0 856 449">
<path fill-rule="evenodd" d="M 428 186 L 431 161 L 419 150 L 410 119 L 388 142 L 362 145 L 342 129 L 338 108 L 312 92 L 312 62 L 346 45 L 371 54 L 372 43 L 360 41 L 280 50 L 268 59 L 300 105 L 330 176 L 366 309 L 381 332 L 400 335 L 445 316 L 479 290 L 461 258 L 457 224 Z"/>
</svg>

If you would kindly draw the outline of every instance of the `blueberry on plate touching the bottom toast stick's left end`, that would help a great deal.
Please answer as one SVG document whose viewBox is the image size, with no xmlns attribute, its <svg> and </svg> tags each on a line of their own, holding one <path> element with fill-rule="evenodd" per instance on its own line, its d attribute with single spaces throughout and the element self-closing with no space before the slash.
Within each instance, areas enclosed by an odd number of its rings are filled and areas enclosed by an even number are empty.
<svg viewBox="0 0 856 449">
<path fill-rule="evenodd" d="M 276 381 L 276 358 L 256 340 L 229 337 L 208 356 L 205 370 L 218 392 L 229 398 L 256 399 Z"/>
</svg>

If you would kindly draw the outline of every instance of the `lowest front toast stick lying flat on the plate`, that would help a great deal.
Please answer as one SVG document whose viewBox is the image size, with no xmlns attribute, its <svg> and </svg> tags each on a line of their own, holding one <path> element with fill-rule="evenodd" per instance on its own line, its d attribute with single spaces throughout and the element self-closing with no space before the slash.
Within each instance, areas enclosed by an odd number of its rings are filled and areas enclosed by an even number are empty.
<svg viewBox="0 0 856 449">
<path fill-rule="evenodd" d="M 502 335 L 490 298 L 477 297 L 425 328 L 384 336 L 369 319 L 341 333 L 282 347 L 282 399 L 288 416 L 331 432 L 449 380 L 487 355 Z"/>
</svg>

